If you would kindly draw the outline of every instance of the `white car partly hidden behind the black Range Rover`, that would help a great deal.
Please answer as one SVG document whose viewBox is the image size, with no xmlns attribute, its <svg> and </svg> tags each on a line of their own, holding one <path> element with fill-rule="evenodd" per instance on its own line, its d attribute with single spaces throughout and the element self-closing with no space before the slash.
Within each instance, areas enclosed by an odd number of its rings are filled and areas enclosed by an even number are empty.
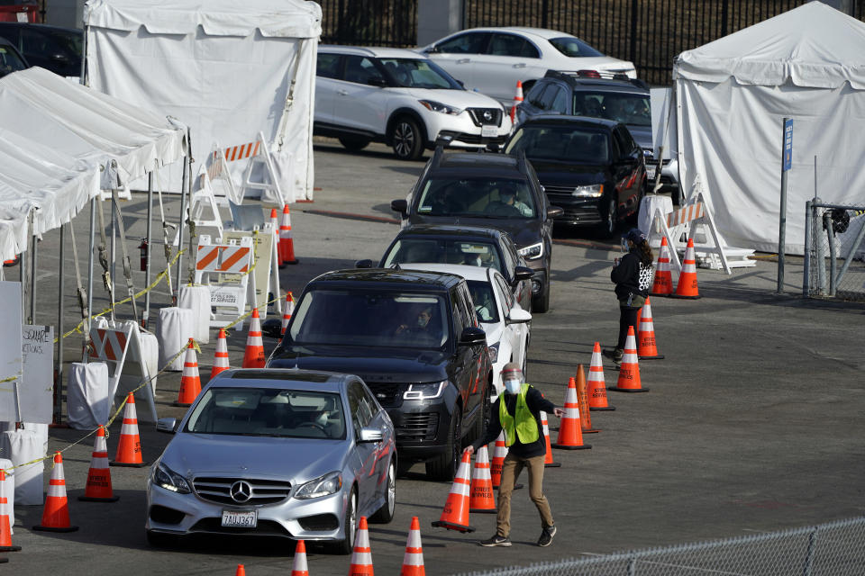
<svg viewBox="0 0 865 576">
<path fill-rule="evenodd" d="M 409 270 L 428 270 L 460 275 L 469 284 L 480 328 L 487 333 L 489 359 L 493 363 L 493 385 L 490 401 L 496 401 L 504 390 L 502 368 L 508 362 L 523 367 L 525 374 L 532 314 L 514 302 L 505 278 L 495 268 L 459 264 L 400 264 Z"/>
</svg>

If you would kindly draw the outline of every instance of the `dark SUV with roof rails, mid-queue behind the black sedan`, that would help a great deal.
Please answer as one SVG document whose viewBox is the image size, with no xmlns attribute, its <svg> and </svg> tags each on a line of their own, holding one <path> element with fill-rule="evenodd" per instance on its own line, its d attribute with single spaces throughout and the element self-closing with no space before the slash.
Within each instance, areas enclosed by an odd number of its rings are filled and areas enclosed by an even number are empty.
<svg viewBox="0 0 865 576">
<path fill-rule="evenodd" d="M 532 311 L 550 308 L 551 206 L 524 156 L 455 152 L 435 154 L 405 200 L 390 202 L 403 226 L 453 224 L 501 229 L 533 269 Z"/>
</svg>

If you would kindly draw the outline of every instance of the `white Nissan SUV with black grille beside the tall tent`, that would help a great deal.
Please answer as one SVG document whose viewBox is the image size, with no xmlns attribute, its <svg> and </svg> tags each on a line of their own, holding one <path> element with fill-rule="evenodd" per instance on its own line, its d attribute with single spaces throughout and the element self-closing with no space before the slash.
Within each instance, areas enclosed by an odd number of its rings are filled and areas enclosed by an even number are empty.
<svg viewBox="0 0 865 576">
<path fill-rule="evenodd" d="M 416 160 L 437 141 L 487 148 L 511 131 L 501 104 L 412 50 L 321 46 L 316 75 L 314 133 L 350 150 L 379 141 Z"/>
</svg>

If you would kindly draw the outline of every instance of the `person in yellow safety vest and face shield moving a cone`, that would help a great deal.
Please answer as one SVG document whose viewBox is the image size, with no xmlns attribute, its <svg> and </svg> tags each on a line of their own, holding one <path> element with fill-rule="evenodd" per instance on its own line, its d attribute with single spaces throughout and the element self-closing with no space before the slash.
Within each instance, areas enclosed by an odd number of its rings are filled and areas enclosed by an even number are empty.
<svg viewBox="0 0 865 576">
<path fill-rule="evenodd" d="M 496 534 L 479 544 L 482 546 L 510 546 L 511 532 L 511 493 L 514 482 L 523 471 L 529 471 L 529 497 L 541 514 L 541 537 L 539 546 L 549 546 L 552 536 L 556 535 L 556 525 L 552 520 L 550 503 L 543 495 L 543 468 L 547 446 L 543 437 L 541 414 L 543 410 L 561 417 L 565 410 L 556 407 L 551 401 L 530 384 L 523 382 L 523 371 L 519 365 L 509 362 L 502 369 L 505 392 L 499 394 L 493 404 L 492 417 L 487 423 L 484 437 L 466 447 L 472 454 L 480 446 L 496 440 L 505 430 L 505 444 L 508 452 L 502 464 L 502 477 L 498 485 L 498 515 Z"/>
</svg>

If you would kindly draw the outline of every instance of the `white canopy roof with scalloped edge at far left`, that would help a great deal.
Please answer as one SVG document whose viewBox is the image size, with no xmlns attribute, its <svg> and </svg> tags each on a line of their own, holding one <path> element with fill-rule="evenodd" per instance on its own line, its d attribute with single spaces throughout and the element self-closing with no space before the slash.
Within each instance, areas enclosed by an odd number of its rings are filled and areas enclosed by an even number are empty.
<svg viewBox="0 0 865 576">
<path fill-rule="evenodd" d="M 23 252 L 29 233 L 71 220 L 100 186 L 124 184 L 157 160 L 185 154 L 185 127 L 39 67 L 0 79 L 0 118 L 3 259 Z"/>
</svg>

